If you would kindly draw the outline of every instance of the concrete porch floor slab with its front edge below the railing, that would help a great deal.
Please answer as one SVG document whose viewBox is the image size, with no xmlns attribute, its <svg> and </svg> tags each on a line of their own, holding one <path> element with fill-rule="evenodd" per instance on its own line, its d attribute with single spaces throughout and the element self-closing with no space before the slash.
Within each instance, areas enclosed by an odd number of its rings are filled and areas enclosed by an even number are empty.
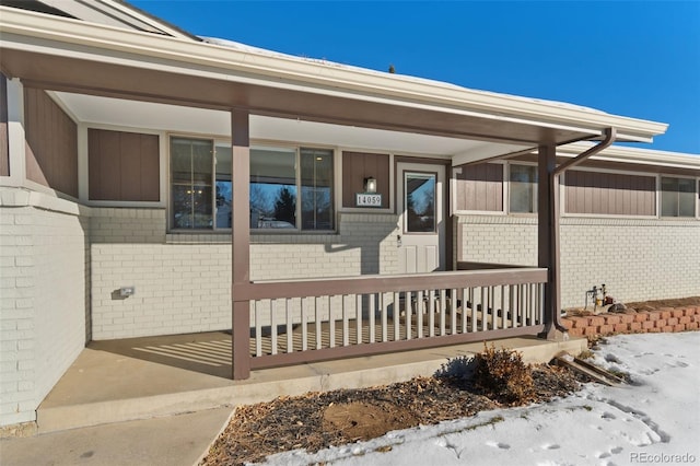
<svg viewBox="0 0 700 466">
<path fill-rule="evenodd" d="M 549 361 L 561 350 L 578 354 L 586 340 L 535 337 L 492 340 Z M 39 433 L 149 419 L 271 400 L 282 395 L 358 388 L 433 375 L 448 359 L 483 349 L 483 342 L 395 352 L 252 371 L 231 376 L 231 336 L 206 333 L 91 342 L 37 410 Z"/>
</svg>

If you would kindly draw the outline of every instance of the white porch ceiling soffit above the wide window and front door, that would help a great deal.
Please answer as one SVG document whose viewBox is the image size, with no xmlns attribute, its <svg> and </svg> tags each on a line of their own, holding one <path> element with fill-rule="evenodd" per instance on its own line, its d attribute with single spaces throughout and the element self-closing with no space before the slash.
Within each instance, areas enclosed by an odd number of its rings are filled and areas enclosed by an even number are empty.
<svg viewBox="0 0 700 466">
<path fill-rule="evenodd" d="M 112 97 L 52 92 L 81 123 L 132 131 L 158 130 L 231 137 L 228 112 Z M 393 153 L 444 155 L 469 154 L 468 161 L 520 150 L 518 145 L 445 138 L 296 119 L 250 116 L 250 138 L 332 145 Z"/>
</svg>

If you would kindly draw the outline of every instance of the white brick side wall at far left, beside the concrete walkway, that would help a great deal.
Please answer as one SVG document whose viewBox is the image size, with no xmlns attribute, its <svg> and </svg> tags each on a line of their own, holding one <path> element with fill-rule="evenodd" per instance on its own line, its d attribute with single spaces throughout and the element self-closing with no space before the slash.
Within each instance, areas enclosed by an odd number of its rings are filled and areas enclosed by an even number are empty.
<svg viewBox="0 0 700 466">
<path fill-rule="evenodd" d="M 86 224 L 32 196 L 2 189 L 0 424 L 35 420 L 85 343 Z"/>
</svg>

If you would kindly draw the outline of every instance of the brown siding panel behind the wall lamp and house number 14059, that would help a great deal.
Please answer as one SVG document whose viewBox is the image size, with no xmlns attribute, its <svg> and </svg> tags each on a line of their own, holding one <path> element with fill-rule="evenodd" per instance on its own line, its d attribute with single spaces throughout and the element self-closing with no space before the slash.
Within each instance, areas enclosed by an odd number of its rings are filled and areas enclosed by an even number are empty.
<svg viewBox="0 0 700 466">
<path fill-rule="evenodd" d="M 342 153 L 342 207 L 354 207 L 354 194 L 364 191 L 364 178 L 376 178 L 382 208 L 389 207 L 389 156 L 364 152 Z"/>
</svg>

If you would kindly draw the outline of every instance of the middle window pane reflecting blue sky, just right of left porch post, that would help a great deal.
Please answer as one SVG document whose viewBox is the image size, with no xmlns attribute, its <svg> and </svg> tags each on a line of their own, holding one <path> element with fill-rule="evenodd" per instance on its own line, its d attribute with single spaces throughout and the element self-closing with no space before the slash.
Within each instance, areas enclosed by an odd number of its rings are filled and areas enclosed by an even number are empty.
<svg viewBox="0 0 700 466">
<path fill-rule="evenodd" d="M 296 228 L 296 151 L 250 149 L 250 228 Z"/>
</svg>

